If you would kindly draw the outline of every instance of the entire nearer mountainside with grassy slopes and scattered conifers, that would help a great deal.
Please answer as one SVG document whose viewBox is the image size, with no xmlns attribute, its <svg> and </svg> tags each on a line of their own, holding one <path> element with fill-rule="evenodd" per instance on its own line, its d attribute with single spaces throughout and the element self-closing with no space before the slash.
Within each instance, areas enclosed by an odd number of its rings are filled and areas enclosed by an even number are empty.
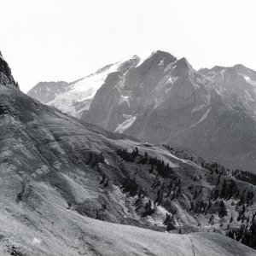
<svg viewBox="0 0 256 256">
<path fill-rule="evenodd" d="M 243 172 L 45 106 L 7 66 L 1 77 L 1 255 L 255 254 Z"/>
</svg>

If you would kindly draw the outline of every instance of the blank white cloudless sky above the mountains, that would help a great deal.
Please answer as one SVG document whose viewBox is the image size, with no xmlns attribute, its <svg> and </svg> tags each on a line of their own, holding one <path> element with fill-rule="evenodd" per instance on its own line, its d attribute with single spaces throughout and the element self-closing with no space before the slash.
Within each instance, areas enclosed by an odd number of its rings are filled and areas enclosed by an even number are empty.
<svg viewBox="0 0 256 256">
<path fill-rule="evenodd" d="M 195 69 L 256 70 L 255 10 L 255 0 L 0 0 L 0 50 L 24 92 L 157 49 Z"/>
</svg>

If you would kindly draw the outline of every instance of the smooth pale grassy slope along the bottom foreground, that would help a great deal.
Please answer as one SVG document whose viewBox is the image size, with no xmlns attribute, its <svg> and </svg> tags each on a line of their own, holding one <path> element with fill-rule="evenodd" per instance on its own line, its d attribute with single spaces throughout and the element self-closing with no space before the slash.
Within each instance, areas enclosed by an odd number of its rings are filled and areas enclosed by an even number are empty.
<svg viewBox="0 0 256 256">
<path fill-rule="evenodd" d="M 34 196 L 34 211 L 1 201 L 1 255 L 13 246 L 22 255 L 255 255 L 217 233 L 177 235 L 111 224 L 67 210 L 59 199 Z"/>
</svg>

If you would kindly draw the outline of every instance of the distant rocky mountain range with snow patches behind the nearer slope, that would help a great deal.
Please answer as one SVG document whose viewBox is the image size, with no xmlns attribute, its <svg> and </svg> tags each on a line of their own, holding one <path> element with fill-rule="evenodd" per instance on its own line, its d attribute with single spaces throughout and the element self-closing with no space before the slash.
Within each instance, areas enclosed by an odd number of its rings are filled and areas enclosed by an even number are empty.
<svg viewBox="0 0 256 256">
<path fill-rule="evenodd" d="M 39 83 L 28 96 L 108 131 L 255 172 L 256 72 L 242 65 L 196 71 L 155 51 L 70 84 Z"/>
</svg>

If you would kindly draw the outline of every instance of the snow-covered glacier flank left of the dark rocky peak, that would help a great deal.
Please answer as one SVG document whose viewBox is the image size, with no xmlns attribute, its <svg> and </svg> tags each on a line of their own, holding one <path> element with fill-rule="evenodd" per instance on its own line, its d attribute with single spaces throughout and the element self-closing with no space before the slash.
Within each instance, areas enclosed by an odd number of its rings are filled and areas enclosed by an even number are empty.
<svg viewBox="0 0 256 256">
<path fill-rule="evenodd" d="M 40 82 L 27 92 L 28 96 L 39 102 L 60 109 L 77 118 L 90 108 L 90 102 L 109 73 L 120 71 L 127 73 L 131 67 L 143 61 L 143 57 L 134 56 L 129 61 L 120 61 L 100 68 L 96 73 L 78 79 L 72 83 L 67 82 Z"/>
</svg>

